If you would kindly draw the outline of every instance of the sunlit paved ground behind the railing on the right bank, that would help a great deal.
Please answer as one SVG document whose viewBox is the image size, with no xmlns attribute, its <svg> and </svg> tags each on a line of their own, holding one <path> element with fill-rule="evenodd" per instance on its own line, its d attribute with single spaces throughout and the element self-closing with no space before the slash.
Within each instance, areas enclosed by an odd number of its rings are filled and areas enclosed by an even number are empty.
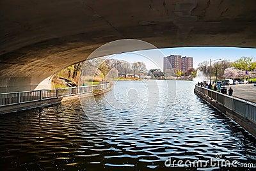
<svg viewBox="0 0 256 171">
<path fill-rule="evenodd" d="M 233 96 L 256 103 L 256 86 L 253 84 L 229 85 L 234 90 Z"/>
</svg>

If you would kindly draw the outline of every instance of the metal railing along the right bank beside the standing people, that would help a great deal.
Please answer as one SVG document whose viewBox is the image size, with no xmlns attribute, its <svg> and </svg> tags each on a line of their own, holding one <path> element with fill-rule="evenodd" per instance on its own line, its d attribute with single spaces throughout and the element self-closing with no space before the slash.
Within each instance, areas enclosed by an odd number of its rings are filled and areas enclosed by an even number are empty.
<svg viewBox="0 0 256 171">
<path fill-rule="evenodd" d="M 216 100 L 224 107 L 227 107 L 230 110 L 236 112 L 237 114 L 242 115 L 246 119 L 249 119 L 250 121 L 256 123 L 256 103 L 228 96 L 226 94 L 212 91 L 198 85 L 195 86 L 195 90 L 202 94 L 205 94 L 205 96 Z"/>
</svg>

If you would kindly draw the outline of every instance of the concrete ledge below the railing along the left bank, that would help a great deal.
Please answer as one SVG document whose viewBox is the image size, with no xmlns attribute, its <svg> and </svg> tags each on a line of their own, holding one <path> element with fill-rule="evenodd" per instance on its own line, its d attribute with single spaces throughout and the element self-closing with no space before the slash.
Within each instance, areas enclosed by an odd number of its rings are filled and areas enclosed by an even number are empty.
<svg viewBox="0 0 256 171">
<path fill-rule="evenodd" d="M 28 103 L 20 103 L 19 105 L 10 105 L 6 107 L 0 107 L 0 114 L 10 113 L 10 112 L 16 112 L 18 110 L 25 110 L 28 108 L 36 108 L 36 107 L 43 107 L 47 105 L 53 105 L 57 103 L 61 103 L 61 101 L 68 101 L 68 100 L 74 100 L 79 97 L 90 97 L 90 96 L 97 96 L 99 94 L 103 94 L 111 90 L 111 88 L 97 91 L 95 93 L 84 93 L 84 94 L 77 94 L 74 96 L 65 96 L 62 98 L 52 98 L 48 100 L 42 100 L 42 101 L 32 101 Z"/>
</svg>

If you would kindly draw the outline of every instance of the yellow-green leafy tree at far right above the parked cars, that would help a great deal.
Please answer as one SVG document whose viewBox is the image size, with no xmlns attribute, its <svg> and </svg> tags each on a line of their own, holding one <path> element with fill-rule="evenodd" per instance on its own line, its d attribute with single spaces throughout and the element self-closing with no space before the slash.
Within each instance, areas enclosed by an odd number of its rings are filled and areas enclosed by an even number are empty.
<svg viewBox="0 0 256 171">
<path fill-rule="evenodd" d="M 252 57 L 243 56 L 240 59 L 234 61 L 234 63 L 232 63 L 232 66 L 234 66 L 238 70 L 253 71 L 256 68 L 256 62 L 253 61 Z"/>
</svg>

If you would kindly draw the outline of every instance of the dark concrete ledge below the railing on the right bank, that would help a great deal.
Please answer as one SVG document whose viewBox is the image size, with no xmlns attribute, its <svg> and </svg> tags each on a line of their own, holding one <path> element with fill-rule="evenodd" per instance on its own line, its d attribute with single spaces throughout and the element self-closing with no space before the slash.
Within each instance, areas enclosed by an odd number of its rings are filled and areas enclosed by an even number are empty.
<svg viewBox="0 0 256 171">
<path fill-rule="evenodd" d="M 243 117 L 242 115 L 237 114 L 236 112 L 230 110 L 227 107 L 224 107 L 223 105 L 221 105 L 220 103 L 216 103 L 216 100 L 212 100 L 212 98 L 207 97 L 205 94 L 200 93 L 199 91 L 196 91 L 194 89 L 194 93 L 199 96 L 200 98 L 204 99 L 205 101 L 207 101 L 210 105 L 212 105 L 213 107 L 218 108 L 218 110 L 220 110 L 221 112 L 223 112 L 223 114 L 227 115 L 228 117 L 230 117 L 233 121 L 235 121 L 237 124 L 239 124 L 240 126 L 242 126 L 244 128 L 244 130 L 248 131 L 249 133 L 251 133 L 254 137 L 256 137 L 256 124 L 253 123 L 252 121 L 246 119 L 245 117 Z"/>
</svg>

